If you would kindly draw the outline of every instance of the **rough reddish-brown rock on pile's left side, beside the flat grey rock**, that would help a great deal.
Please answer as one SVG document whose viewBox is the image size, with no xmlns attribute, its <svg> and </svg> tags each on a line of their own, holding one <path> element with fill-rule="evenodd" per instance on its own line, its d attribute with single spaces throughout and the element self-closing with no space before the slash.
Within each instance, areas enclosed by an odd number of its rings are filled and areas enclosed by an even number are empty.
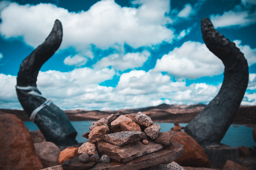
<svg viewBox="0 0 256 170">
<path fill-rule="evenodd" d="M 106 126 L 96 126 L 92 129 L 91 133 L 88 135 L 88 141 L 90 143 L 98 142 L 103 140 L 103 136 L 106 135 L 109 128 Z"/>
</svg>

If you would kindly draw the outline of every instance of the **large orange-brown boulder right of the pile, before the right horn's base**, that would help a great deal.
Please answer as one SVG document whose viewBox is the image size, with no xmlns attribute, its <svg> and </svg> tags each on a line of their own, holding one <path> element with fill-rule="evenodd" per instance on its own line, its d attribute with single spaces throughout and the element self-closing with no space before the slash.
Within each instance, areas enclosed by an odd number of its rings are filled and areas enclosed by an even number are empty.
<svg viewBox="0 0 256 170">
<path fill-rule="evenodd" d="M 202 147 L 185 132 L 170 131 L 171 142 L 185 146 L 184 154 L 175 160 L 181 166 L 210 167 L 210 161 Z"/>
</svg>

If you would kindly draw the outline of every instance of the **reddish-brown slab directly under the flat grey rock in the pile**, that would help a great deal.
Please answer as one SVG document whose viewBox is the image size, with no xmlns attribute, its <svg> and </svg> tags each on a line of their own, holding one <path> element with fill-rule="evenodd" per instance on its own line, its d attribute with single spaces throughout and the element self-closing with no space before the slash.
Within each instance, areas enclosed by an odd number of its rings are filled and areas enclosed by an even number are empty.
<svg viewBox="0 0 256 170">
<path fill-rule="evenodd" d="M 119 163 L 126 163 L 134 158 L 163 149 L 161 144 L 154 143 L 153 141 L 149 141 L 147 145 L 136 141 L 125 146 L 112 145 L 106 141 L 97 143 L 96 148 L 99 155 L 109 155 L 112 161 Z"/>
</svg>

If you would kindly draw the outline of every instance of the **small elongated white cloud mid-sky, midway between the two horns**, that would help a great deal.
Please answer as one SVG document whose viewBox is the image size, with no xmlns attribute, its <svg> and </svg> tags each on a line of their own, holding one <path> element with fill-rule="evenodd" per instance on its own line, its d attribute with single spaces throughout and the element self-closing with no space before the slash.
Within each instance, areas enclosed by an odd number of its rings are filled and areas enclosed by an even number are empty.
<svg viewBox="0 0 256 170">
<path fill-rule="evenodd" d="M 105 68 L 111 66 L 120 71 L 141 67 L 147 61 L 150 53 L 147 50 L 142 53 L 111 54 L 102 58 L 95 64 L 95 68 Z"/>
</svg>

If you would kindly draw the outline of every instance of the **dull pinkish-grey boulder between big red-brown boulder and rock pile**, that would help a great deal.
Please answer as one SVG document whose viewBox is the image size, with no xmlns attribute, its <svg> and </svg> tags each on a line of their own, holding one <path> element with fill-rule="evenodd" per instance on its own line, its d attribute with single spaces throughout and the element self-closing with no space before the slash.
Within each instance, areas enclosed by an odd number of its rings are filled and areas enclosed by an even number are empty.
<svg viewBox="0 0 256 170">
<path fill-rule="evenodd" d="M 59 165 L 60 149 L 57 145 L 52 142 L 41 142 L 35 143 L 34 146 L 44 168 Z"/>
</svg>

